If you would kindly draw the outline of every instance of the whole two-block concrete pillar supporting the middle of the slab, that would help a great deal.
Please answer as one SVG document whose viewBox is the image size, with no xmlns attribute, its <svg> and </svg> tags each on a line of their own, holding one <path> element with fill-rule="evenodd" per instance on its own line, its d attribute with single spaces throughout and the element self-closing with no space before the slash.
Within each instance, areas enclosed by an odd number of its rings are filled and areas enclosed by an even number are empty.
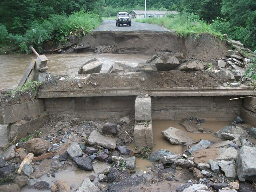
<svg viewBox="0 0 256 192">
<path fill-rule="evenodd" d="M 153 147 L 151 98 L 137 97 L 135 100 L 134 142 L 136 147 Z"/>
</svg>

